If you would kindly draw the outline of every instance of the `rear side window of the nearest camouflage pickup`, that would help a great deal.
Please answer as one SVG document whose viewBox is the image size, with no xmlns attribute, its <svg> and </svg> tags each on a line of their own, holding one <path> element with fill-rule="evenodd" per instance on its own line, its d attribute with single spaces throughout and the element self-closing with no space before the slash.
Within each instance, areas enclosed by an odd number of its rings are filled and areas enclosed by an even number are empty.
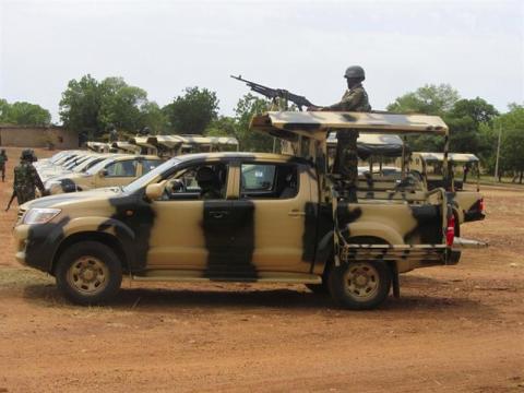
<svg viewBox="0 0 524 393">
<path fill-rule="evenodd" d="M 298 193 L 296 165 L 242 164 L 240 196 L 245 199 L 290 199 Z"/>
</svg>

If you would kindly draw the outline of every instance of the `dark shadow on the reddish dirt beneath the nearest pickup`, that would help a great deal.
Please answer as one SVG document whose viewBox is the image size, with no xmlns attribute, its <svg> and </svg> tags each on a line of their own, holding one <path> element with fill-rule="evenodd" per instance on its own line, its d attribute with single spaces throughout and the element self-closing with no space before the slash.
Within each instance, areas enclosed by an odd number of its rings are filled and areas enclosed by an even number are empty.
<svg viewBox="0 0 524 393">
<path fill-rule="evenodd" d="M 279 311 L 341 311 L 327 295 L 317 295 L 300 289 L 299 286 L 289 288 L 260 289 L 180 289 L 171 288 L 123 288 L 107 307 L 112 310 L 135 310 L 138 312 L 176 312 L 181 310 L 257 310 L 272 309 Z M 82 308 L 68 302 L 58 291 L 55 285 L 28 285 L 23 290 L 24 299 L 44 307 Z M 495 311 L 490 307 L 468 298 L 450 298 L 421 295 L 406 295 L 400 299 L 390 298 L 377 310 L 369 311 L 381 315 L 405 314 L 406 312 L 442 312 L 442 318 L 456 318 L 456 311 L 464 311 L 464 314 L 475 314 L 483 311 L 490 313 Z M 450 311 L 453 311 L 450 313 Z M 367 312 L 367 313 L 369 313 Z M 452 315 L 453 314 L 453 315 Z"/>
</svg>

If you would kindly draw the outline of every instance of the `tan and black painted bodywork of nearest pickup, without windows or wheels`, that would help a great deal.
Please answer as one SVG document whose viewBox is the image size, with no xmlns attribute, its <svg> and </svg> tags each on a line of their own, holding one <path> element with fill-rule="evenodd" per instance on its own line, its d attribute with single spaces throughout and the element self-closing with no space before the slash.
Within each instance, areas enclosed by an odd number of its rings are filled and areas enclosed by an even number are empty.
<svg viewBox="0 0 524 393">
<path fill-rule="evenodd" d="M 124 270 L 136 277 L 319 282 L 333 252 L 332 206 L 319 193 L 323 177 L 309 162 L 296 157 L 213 153 L 182 156 L 151 182 L 162 181 L 183 166 L 217 162 L 229 164 L 223 200 L 147 201 L 142 188 L 134 193 L 94 190 L 61 194 L 23 205 L 20 216 L 32 207 L 52 206 L 61 213 L 47 224 L 19 222 L 14 230 L 16 259 L 52 273 L 66 247 L 97 239 L 112 247 Z M 298 194 L 282 200 L 240 198 L 240 163 L 296 165 Z M 445 198 L 438 193 L 420 198 L 420 206 L 404 203 L 402 193 L 342 203 L 338 224 L 349 242 L 355 237 L 380 239 L 388 250 L 381 251 L 382 258 L 395 263 L 400 272 L 445 263 Z M 412 246 L 417 251 L 412 252 Z M 366 243 L 350 247 L 352 258 L 368 252 L 360 247 Z"/>
</svg>

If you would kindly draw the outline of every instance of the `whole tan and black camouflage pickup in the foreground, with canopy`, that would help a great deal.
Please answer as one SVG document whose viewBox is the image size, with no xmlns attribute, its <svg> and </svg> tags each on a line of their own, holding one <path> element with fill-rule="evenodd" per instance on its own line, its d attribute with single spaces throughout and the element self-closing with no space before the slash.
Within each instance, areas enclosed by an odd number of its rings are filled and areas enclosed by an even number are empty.
<svg viewBox="0 0 524 393">
<path fill-rule="evenodd" d="M 371 309 L 398 274 L 450 263 L 445 191 L 337 196 L 326 134 L 362 129 L 437 133 L 438 117 L 269 112 L 251 128 L 300 156 L 201 153 L 174 157 L 121 189 L 51 195 L 21 206 L 16 259 L 48 272 L 72 301 L 114 297 L 136 281 L 307 284 L 337 303 Z M 298 146 L 298 147 L 297 147 Z"/>
</svg>

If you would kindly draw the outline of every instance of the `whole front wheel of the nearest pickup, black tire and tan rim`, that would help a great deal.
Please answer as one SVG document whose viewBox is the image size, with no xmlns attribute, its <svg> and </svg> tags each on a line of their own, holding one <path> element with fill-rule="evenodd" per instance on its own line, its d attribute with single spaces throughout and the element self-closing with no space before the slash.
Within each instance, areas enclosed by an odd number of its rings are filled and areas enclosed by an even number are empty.
<svg viewBox="0 0 524 393">
<path fill-rule="evenodd" d="M 122 265 L 116 253 L 97 241 L 70 246 L 58 260 L 57 286 L 72 302 L 96 305 L 111 299 L 122 283 Z"/>
</svg>

